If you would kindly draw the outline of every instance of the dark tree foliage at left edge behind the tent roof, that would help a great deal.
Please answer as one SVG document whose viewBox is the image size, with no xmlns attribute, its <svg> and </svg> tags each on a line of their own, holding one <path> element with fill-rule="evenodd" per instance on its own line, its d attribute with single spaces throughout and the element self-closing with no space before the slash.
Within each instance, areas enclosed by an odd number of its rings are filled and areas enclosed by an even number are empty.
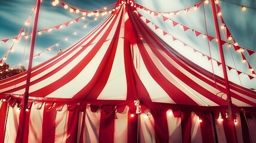
<svg viewBox="0 0 256 143">
<path fill-rule="evenodd" d="M 26 71 L 24 66 L 20 66 L 17 69 L 10 68 L 9 64 L 2 63 L 0 64 L 0 80 L 6 79 L 8 77 L 14 76 L 18 73 Z"/>
</svg>

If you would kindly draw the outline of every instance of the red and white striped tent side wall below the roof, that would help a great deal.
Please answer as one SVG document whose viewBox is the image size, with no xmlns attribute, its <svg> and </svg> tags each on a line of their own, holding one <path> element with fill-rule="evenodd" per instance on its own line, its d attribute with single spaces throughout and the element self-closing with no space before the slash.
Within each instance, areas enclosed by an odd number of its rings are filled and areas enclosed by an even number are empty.
<svg viewBox="0 0 256 143">
<path fill-rule="evenodd" d="M 20 125 L 19 107 L 16 104 L 8 108 L 8 102 L 2 100 L 0 105 L 1 139 L 16 142 Z M 5 113 L 8 116 L 2 116 Z M 227 119 L 221 121 L 221 116 L 213 119 L 211 113 L 202 116 L 189 111 L 177 114 L 172 110 L 146 109 L 131 117 L 128 106 L 116 110 L 113 105 L 86 105 L 81 108 L 53 103 L 33 103 L 26 113 L 24 142 L 137 142 L 137 139 L 139 142 L 215 142 L 216 139 L 229 142 L 229 132 L 224 129 Z M 236 115 L 238 141 L 244 142 L 243 124 L 239 113 Z M 7 123 L 2 122 L 4 120 Z M 256 120 L 248 119 L 248 123 L 250 129 L 255 130 Z M 252 131 L 252 135 L 255 136 L 255 132 Z"/>
</svg>

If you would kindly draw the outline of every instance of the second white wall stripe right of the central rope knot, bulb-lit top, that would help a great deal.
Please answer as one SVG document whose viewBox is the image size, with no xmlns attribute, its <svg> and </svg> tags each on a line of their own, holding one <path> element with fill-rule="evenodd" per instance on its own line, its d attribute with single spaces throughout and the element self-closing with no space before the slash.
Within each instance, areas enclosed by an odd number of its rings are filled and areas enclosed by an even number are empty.
<svg viewBox="0 0 256 143">
<path fill-rule="evenodd" d="M 181 118 L 174 117 L 172 110 L 166 112 L 169 142 L 182 142 Z"/>
</svg>

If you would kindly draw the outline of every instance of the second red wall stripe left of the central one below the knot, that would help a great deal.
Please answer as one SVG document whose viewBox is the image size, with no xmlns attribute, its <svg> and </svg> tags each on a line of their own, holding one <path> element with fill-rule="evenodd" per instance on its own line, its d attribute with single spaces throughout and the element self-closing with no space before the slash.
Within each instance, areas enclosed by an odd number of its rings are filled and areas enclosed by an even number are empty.
<svg viewBox="0 0 256 143">
<path fill-rule="evenodd" d="M 73 110 L 73 111 L 69 111 L 69 118 L 67 120 L 67 140 L 66 140 L 66 142 L 77 142 L 78 121 L 79 121 L 78 108 L 75 108 L 75 110 Z"/>
</svg>

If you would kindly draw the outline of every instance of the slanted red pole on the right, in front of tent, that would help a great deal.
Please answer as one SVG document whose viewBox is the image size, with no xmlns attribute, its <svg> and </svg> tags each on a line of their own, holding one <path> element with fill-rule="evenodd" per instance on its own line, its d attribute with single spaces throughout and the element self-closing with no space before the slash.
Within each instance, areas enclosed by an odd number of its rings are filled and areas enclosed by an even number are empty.
<svg viewBox="0 0 256 143">
<path fill-rule="evenodd" d="M 227 70 L 226 70 L 226 63 L 224 58 L 224 52 L 223 52 L 223 46 L 221 44 L 221 36 L 220 36 L 220 29 L 218 28 L 218 19 L 215 9 L 215 1 L 211 0 L 211 6 L 212 6 L 212 14 L 214 18 L 214 24 L 215 24 L 215 31 L 218 39 L 218 48 L 220 51 L 220 58 L 221 58 L 221 65 L 223 69 L 224 74 L 224 80 L 225 80 L 225 86 L 226 86 L 226 93 L 227 94 L 227 104 L 228 104 L 228 110 L 227 110 L 227 118 L 228 119 L 234 119 L 234 113 L 233 113 L 233 107 L 232 107 L 232 100 L 230 95 L 230 87 L 229 87 L 229 79 L 227 77 Z M 236 138 L 236 128 L 235 124 L 230 125 L 230 133 L 232 134 L 233 142 L 238 142 L 238 139 Z"/>
</svg>

